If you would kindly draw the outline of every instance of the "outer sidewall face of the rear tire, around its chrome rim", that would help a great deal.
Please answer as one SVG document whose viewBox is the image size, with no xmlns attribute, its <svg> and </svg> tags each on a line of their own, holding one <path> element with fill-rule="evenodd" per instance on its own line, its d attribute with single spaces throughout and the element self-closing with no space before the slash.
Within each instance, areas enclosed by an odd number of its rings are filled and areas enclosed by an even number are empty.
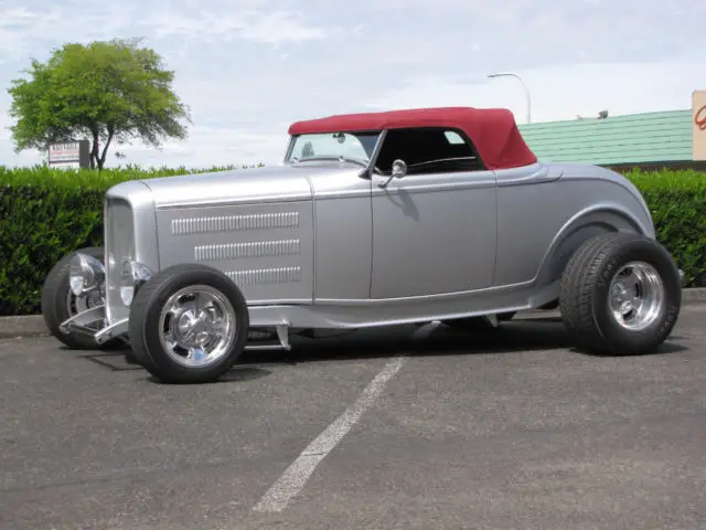
<svg viewBox="0 0 706 530">
<path fill-rule="evenodd" d="M 620 268 L 630 262 L 644 262 L 652 265 L 660 275 L 664 288 L 660 316 L 649 328 L 640 331 L 622 328 L 610 314 L 610 284 Z M 652 351 L 662 343 L 676 324 L 682 300 L 678 271 L 666 250 L 646 239 L 625 242 L 607 256 L 599 266 L 596 277 L 592 316 L 600 333 L 611 348 L 618 350 L 622 348 L 630 354 Z"/>
</svg>

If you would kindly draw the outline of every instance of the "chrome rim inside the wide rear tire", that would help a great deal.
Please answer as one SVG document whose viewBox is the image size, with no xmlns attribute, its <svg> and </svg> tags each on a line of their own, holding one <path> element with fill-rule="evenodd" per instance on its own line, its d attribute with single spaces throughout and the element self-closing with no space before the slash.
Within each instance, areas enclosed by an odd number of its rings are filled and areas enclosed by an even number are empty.
<svg viewBox="0 0 706 530">
<path fill-rule="evenodd" d="M 613 319 L 630 331 L 651 326 L 664 308 L 662 278 L 644 262 L 632 262 L 618 271 L 610 283 L 609 296 Z"/>
</svg>

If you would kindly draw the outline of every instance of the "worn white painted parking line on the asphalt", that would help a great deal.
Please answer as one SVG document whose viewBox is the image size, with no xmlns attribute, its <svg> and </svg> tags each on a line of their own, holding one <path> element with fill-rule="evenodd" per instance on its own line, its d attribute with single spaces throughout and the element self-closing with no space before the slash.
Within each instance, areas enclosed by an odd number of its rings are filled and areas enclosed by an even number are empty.
<svg viewBox="0 0 706 530">
<path fill-rule="evenodd" d="M 385 389 L 385 384 L 402 369 L 406 357 L 389 361 L 365 388 L 360 398 L 323 431 L 299 457 L 287 468 L 281 477 L 267 490 L 253 510 L 281 511 L 295 497 L 323 458 L 333 449 Z"/>
</svg>

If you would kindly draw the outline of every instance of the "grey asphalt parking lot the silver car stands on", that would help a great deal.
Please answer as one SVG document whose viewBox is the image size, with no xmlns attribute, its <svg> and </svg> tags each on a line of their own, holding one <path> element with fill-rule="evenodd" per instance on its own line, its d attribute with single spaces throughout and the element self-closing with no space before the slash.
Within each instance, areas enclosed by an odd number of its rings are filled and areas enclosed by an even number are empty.
<svg viewBox="0 0 706 530">
<path fill-rule="evenodd" d="M 0 341 L 0 528 L 704 529 L 706 305 L 655 356 L 556 319 L 256 352 L 172 386 Z"/>
</svg>

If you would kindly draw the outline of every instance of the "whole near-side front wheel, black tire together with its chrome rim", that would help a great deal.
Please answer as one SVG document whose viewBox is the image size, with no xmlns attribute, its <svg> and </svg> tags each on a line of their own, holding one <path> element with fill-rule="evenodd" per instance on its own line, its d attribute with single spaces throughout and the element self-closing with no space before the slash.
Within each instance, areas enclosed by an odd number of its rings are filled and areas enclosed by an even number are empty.
<svg viewBox="0 0 706 530">
<path fill-rule="evenodd" d="M 168 383 L 217 380 L 247 341 L 243 294 L 221 271 L 200 264 L 168 267 L 137 292 L 129 335 L 135 357 Z"/>
</svg>

